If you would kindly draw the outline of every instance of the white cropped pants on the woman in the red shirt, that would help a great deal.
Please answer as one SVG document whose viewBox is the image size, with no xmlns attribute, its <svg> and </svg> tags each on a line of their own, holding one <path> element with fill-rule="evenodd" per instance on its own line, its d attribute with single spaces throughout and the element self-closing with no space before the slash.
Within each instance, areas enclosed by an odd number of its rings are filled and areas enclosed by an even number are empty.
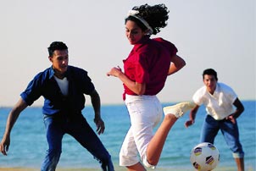
<svg viewBox="0 0 256 171">
<path fill-rule="evenodd" d="M 163 109 L 156 96 L 125 96 L 125 105 L 131 119 L 131 127 L 120 150 L 120 166 L 131 166 L 140 160 L 147 163 L 147 145 L 153 138 L 153 127 L 162 119 Z"/>
</svg>

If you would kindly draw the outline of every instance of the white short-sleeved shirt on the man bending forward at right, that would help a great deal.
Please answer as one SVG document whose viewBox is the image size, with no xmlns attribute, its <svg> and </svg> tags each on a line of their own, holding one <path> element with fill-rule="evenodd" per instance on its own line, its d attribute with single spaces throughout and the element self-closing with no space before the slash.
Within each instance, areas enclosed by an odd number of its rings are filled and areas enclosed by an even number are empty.
<svg viewBox="0 0 256 171">
<path fill-rule="evenodd" d="M 221 120 L 234 112 L 233 102 L 237 99 L 237 94 L 230 86 L 217 82 L 213 95 L 203 86 L 195 92 L 192 99 L 199 106 L 203 104 L 206 112 L 214 119 Z"/>
</svg>

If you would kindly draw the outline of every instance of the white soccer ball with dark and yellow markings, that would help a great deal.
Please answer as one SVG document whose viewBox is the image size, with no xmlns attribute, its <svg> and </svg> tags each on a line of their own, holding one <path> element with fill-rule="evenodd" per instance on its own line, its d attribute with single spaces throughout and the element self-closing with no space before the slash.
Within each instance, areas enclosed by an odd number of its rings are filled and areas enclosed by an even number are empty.
<svg viewBox="0 0 256 171">
<path fill-rule="evenodd" d="M 220 153 L 216 146 L 203 142 L 194 146 L 190 153 L 190 162 L 199 171 L 209 171 L 216 168 L 220 161 Z"/>
</svg>

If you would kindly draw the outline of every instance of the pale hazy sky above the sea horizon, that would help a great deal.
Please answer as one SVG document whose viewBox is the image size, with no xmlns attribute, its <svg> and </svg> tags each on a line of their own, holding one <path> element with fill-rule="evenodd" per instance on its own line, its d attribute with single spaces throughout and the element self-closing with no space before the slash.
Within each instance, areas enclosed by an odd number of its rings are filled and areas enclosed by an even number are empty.
<svg viewBox="0 0 256 171">
<path fill-rule="evenodd" d="M 86 69 L 102 104 L 122 104 L 122 83 L 106 73 L 123 67 L 132 48 L 124 20 L 128 10 L 144 3 L 169 8 L 168 25 L 152 37 L 174 43 L 186 61 L 168 77 L 161 102 L 191 100 L 208 68 L 241 100 L 256 99 L 253 0 L 8 0 L 0 6 L 0 107 L 14 106 L 33 77 L 51 66 L 47 47 L 53 41 L 67 44 L 70 65 Z M 42 102 L 41 97 L 33 106 Z"/>
</svg>

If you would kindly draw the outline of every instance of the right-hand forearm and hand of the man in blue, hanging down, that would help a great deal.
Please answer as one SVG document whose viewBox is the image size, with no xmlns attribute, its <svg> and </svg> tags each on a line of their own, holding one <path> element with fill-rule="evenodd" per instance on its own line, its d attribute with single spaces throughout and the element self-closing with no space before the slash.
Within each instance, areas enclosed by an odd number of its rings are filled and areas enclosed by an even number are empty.
<svg viewBox="0 0 256 171">
<path fill-rule="evenodd" d="M 97 134 L 103 134 L 104 130 L 105 130 L 105 125 L 103 122 L 103 119 L 101 118 L 101 113 L 100 113 L 100 108 L 101 108 L 101 102 L 100 102 L 100 97 L 97 94 L 97 91 L 92 91 L 92 93 L 90 94 L 91 97 L 91 102 L 92 102 L 92 107 L 94 110 L 94 123 L 97 126 Z"/>
</svg>

